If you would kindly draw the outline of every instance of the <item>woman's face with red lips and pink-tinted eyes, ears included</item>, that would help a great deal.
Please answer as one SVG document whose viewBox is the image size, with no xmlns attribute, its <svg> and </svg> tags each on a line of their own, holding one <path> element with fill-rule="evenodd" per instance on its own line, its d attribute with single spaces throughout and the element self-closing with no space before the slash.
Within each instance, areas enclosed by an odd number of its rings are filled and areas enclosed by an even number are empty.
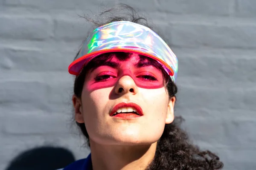
<svg viewBox="0 0 256 170">
<path fill-rule="evenodd" d="M 151 144 L 174 119 L 175 98 L 169 99 L 162 71 L 137 54 L 94 68 L 73 103 L 76 121 L 99 144 Z"/>
</svg>

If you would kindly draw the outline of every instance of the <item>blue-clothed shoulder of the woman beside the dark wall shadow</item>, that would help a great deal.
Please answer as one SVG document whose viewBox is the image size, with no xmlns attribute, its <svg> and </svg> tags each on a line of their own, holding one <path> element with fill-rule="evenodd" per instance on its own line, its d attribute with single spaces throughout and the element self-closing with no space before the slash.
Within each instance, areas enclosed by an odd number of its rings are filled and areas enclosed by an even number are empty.
<svg viewBox="0 0 256 170">
<path fill-rule="evenodd" d="M 64 167 L 63 170 L 91 170 L 92 163 L 90 155 L 86 159 L 80 159 Z"/>
</svg>

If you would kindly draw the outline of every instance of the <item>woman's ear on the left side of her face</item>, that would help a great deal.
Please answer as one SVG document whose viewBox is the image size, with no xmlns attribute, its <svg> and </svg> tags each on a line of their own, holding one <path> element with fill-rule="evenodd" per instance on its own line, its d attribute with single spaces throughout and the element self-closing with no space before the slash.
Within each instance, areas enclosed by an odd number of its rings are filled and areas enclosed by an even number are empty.
<svg viewBox="0 0 256 170">
<path fill-rule="evenodd" d="M 76 95 L 72 96 L 73 107 L 75 109 L 75 119 L 78 123 L 84 123 L 83 109 L 81 105 L 81 99 Z"/>
</svg>

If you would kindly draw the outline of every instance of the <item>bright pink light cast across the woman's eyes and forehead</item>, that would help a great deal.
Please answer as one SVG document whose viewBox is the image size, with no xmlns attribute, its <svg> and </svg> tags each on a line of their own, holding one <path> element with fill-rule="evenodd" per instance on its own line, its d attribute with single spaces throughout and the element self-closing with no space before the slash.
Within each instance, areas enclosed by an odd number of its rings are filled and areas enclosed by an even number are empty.
<svg viewBox="0 0 256 170">
<path fill-rule="evenodd" d="M 160 69 L 150 63 L 138 66 L 138 57 L 119 61 L 113 57 L 108 65 L 94 69 L 86 79 L 88 91 L 114 87 L 123 76 L 129 76 L 139 88 L 156 89 L 164 87 L 163 74 Z M 113 64 L 111 65 L 111 62 Z"/>
</svg>

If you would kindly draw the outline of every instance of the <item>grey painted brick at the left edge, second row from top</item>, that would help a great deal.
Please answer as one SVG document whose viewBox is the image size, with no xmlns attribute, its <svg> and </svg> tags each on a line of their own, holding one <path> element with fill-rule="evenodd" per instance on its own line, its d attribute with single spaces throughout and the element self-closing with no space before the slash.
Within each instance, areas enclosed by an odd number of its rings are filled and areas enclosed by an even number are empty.
<svg viewBox="0 0 256 170">
<path fill-rule="evenodd" d="M 0 17 L 0 37 L 7 39 L 44 40 L 52 34 L 52 24 L 46 18 Z"/>
</svg>

